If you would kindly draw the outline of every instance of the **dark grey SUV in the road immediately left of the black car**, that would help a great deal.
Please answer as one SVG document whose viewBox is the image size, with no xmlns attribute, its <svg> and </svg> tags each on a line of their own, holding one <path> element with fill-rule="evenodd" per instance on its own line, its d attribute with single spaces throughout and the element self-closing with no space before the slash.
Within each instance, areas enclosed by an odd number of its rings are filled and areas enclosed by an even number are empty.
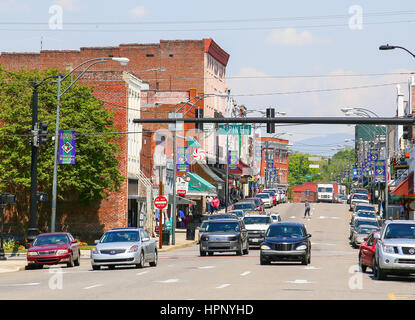
<svg viewBox="0 0 415 320">
<path fill-rule="evenodd" d="M 208 220 L 200 237 L 200 255 L 214 252 L 236 252 L 237 255 L 249 253 L 248 232 L 243 220 Z"/>
</svg>

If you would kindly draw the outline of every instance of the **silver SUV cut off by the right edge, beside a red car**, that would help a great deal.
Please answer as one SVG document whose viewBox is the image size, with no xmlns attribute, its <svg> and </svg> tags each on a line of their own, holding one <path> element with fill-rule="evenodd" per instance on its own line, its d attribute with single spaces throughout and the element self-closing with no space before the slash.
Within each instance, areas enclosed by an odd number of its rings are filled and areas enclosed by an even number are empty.
<svg viewBox="0 0 415 320">
<path fill-rule="evenodd" d="M 389 274 L 415 273 L 415 222 L 388 220 L 377 239 L 374 257 L 374 276 L 384 280 Z"/>
</svg>

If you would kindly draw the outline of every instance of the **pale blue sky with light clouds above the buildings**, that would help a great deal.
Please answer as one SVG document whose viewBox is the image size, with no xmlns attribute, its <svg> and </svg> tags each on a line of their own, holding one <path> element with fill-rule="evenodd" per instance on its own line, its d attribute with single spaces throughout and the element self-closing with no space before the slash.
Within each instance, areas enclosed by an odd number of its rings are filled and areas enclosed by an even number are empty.
<svg viewBox="0 0 415 320">
<path fill-rule="evenodd" d="M 396 112 L 408 97 L 415 52 L 413 1 L 0 0 L 0 51 L 38 52 L 213 38 L 230 54 L 227 85 L 249 110 L 343 116 L 341 108 Z M 251 113 L 250 116 L 260 114 Z M 353 137 L 347 125 L 280 126 L 294 145 L 330 154 Z M 338 141 L 329 139 L 338 138 Z"/>
</svg>

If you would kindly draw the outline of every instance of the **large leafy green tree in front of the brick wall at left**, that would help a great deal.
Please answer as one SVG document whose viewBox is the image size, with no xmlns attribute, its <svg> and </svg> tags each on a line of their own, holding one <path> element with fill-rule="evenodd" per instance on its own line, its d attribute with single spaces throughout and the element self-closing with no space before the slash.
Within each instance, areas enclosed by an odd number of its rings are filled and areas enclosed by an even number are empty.
<svg viewBox="0 0 415 320">
<path fill-rule="evenodd" d="M 12 190 L 28 199 L 30 189 L 30 128 L 32 117 L 31 82 L 40 81 L 57 70 L 45 72 L 0 69 L 0 190 Z M 69 83 L 64 82 L 65 88 Z M 53 178 L 57 84 L 51 80 L 39 87 L 39 122 L 46 122 L 50 138 L 39 148 L 39 190 L 51 194 Z M 58 171 L 58 196 L 68 195 L 90 202 L 119 191 L 124 178 L 118 164 L 117 136 L 112 114 L 92 95 L 88 86 L 75 84 L 61 103 L 60 129 L 75 130 L 76 164 L 62 165 Z"/>
</svg>

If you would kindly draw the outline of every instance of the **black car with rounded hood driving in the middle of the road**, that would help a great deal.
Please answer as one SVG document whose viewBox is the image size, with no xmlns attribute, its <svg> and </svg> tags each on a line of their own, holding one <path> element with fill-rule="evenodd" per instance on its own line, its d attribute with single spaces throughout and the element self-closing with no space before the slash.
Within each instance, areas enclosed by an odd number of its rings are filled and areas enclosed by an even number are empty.
<svg viewBox="0 0 415 320">
<path fill-rule="evenodd" d="M 261 244 L 260 263 L 271 261 L 311 261 L 311 234 L 300 222 L 277 222 L 269 226 Z"/>
</svg>

